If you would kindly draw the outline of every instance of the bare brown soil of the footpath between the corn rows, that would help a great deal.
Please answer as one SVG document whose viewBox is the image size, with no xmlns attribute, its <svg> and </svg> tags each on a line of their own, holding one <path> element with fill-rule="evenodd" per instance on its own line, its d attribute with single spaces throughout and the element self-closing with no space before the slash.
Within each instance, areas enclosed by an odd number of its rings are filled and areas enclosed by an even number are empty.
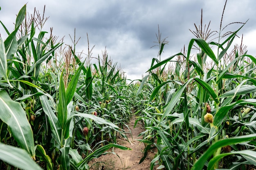
<svg viewBox="0 0 256 170">
<path fill-rule="evenodd" d="M 132 136 L 130 133 L 127 133 L 125 138 L 117 139 L 117 144 L 122 146 L 126 146 L 131 148 L 132 150 L 121 150 L 118 148 L 114 148 L 114 152 L 118 155 L 107 154 L 102 155 L 97 159 L 93 159 L 89 164 L 92 166 L 90 169 L 92 170 L 149 170 L 150 162 L 154 158 L 155 153 L 149 152 L 147 158 L 139 164 L 140 159 L 143 157 L 143 150 L 145 148 L 144 143 L 140 143 L 137 139 L 142 139 L 143 136 L 138 135 L 144 131 L 144 126 L 140 122 L 137 123 L 134 128 L 135 117 L 132 117 L 128 127 L 132 132 Z M 125 129 L 127 132 L 128 129 Z M 112 152 L 113 150 L 109 150 Z"/>
</svg>

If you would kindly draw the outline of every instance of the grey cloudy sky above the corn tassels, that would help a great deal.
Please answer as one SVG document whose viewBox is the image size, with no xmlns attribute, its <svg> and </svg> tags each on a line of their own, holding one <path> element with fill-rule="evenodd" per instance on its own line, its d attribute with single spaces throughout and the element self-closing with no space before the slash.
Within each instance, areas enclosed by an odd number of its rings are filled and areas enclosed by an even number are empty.
<svg viewBox="0 0 256 170">
<path fill-rule="evenodd" d="M 158 47 L 150 48 L 157 41 L 158 25 L 162 38 L 168 37 L 161 59 L 170 57 L 187 48 L 191 38 L 189 31 L 198 26 L 203 9 L 203 23 L 211 21 L 211 31 L 219 31 L 225 0 L 1 0 L 0 20 L 12 31 L 16 14 L 27 3 L 27 12 L 34 8 L 49 17 L 43 31 L 53 27 L 54 35 L 64 37 L 70 44 L 70 36 L 81 37 L 76 52 L 88 51 L 88 33 L 92 57 L 101 56 L 107 49 L 113 62 L 121 65 L 127 78 L 140 79 L 148 70 L 153 57 L 157 57 Z M 222 26 L 231 22 L 246 22 L 238 35 L 244 35 L 243 42 L 248 53 L 256 55 L 256 1 L 228 0 Z M 236 31 L 241 25 L 232 24 L 222 33 Z M 0 34 L 6 38 L 0 25 Z M 217 40 L 216 40 L 217 41 Z M 236 39 L 236 42 L 239 42 Z"/>
</svg>

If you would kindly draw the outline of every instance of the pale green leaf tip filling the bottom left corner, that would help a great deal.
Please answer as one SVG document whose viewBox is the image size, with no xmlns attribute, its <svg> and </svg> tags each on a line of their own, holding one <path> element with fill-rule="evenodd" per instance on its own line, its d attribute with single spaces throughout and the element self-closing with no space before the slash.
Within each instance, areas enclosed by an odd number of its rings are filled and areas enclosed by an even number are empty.
<svg viewBox="0 0 256 170">
<path fill-rule="evenodd" d="M 25 150 L 1 142 L 0 159 L 22 170 L 43 170 Z"/>
</svg>

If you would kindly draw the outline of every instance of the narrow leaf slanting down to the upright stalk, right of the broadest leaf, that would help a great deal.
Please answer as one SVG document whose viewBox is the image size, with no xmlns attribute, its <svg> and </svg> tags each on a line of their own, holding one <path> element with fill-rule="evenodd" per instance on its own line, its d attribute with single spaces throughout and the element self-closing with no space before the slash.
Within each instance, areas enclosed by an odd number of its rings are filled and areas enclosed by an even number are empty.
<svg viewBox="0 0 256 170">
<path fill-rule="evenodd" d="M 56 140 L 56 142 L 61 145 L 61 125 L 58 121 L 58 118 L 54 114 L 51 106 L 49 105 L 49 101 L 45 95 L 40 96 L 40 102 L 43 107 L 43 111 L 47 115 L 47 118 L 49 120 L 49 124 L 51 126 L 52 130 L 52 136 Z"/>
</svg>

